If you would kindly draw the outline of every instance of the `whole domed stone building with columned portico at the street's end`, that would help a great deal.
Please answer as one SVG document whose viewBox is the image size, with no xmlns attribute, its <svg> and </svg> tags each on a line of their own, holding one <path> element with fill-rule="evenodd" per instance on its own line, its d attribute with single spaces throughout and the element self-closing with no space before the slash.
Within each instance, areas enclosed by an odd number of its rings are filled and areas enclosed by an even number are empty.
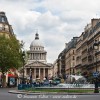
<svg viewBox="0 0 100 100">
<path fill-rule="evenodd" d="M 25 65 L 25 76 L 32 79 L 52 76 L 52 64 L 47 63 L 47 52 L 44 50 L 42 42 L 39 40 L 39 34 L 35 34 L 35 39 L 30 44 L 28 51 L 28 61 Z"/>
</svg>

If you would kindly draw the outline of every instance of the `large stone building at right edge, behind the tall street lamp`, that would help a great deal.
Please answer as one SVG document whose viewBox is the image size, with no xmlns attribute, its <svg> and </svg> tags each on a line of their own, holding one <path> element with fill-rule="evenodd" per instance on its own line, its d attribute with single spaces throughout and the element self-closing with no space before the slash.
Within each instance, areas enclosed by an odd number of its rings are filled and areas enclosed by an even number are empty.
<svg viewBox="0 0 100 100">
<path fill-rule="evenodd" d="M 97 42 L 98 49 L 94 50 L 94 43 Z M 96 55 L 97 53 L 97 55 Z M 100 72 L 100 19 L 91 19 L 76 44 L 76 73 L 82 75 Z"/>
</svg>

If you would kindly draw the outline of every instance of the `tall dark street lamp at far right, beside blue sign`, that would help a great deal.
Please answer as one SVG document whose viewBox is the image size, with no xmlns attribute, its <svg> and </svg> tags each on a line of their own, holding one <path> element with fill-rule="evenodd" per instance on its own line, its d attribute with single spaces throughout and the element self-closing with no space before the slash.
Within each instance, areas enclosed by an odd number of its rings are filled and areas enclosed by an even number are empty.
<svg viewBox="0 0 100 100">
<path fill-rule="evenodd" d="M 97 50 L 98 50 L 98 43 L 97 41 L 95 41 L 94 45 L 94 50 L 96 51 L 95 52 L 95 57 L 96 57 L 96 67 L 95 67 L 95 70 L 96 70 L 96 79 L 95 79 L 95 89 L 94 89 L 94 93 L 99 93 L 99 88 L 98 88 L 98 70 L 97 70 Z"/>
</svg>

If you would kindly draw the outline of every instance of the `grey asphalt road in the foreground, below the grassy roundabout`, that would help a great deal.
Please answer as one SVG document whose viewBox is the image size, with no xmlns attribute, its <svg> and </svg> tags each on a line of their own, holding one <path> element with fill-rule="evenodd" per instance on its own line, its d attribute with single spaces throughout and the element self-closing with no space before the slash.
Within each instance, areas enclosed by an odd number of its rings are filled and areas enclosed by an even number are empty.
<svg viewBox="0 0 100 100">
<path fill-rule="evenodd" d="M 100 95 L 21 95 L 8 93 L 14 88 L 0 88 L 0 100 L 99 100 Z"/>
</svg>

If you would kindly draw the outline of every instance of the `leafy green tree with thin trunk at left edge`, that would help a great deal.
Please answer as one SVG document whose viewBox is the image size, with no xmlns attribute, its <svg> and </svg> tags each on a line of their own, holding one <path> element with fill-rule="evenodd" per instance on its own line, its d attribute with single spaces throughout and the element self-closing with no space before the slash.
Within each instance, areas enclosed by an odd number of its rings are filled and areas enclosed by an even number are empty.
<svg viewBox="0 0 100 100">
<path fill-rule="evenodd" d="M 4 74 L 11 68 L 18 69 L 22 66 L 22 45 L 15 36 L 10 38 L 0 36 L 0 70 L 2 72 L 2 84 Z"/>
</svg>

